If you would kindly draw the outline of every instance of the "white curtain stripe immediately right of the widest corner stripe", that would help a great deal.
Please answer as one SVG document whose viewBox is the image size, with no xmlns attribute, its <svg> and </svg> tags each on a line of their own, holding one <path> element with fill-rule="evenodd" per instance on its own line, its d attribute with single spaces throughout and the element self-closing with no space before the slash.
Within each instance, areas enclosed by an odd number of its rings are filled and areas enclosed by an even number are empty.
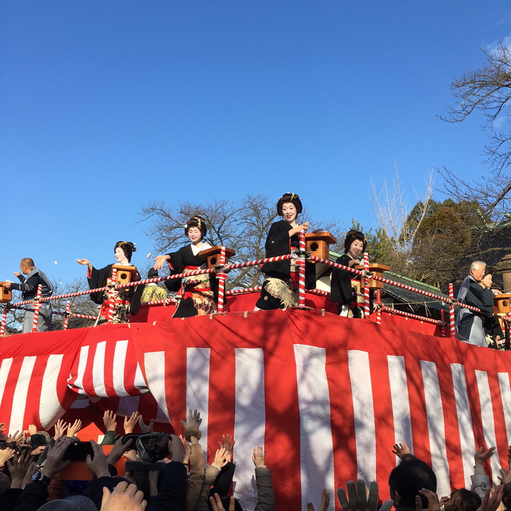
<svg viewBox="0 0 511 511">
<path fill-rule="evenodd" d="M 353 398 L 357 479 L 364 479 L 366 483 L 369 483 L 376 481 L 376 431 L 367 351 L 348 351 L 348 369 Z M 325 486 L 317 488 L 325 488 Z M 302 505 L 303 509 L 306 507 L 307 505 L 305 507 Z"/>
</svg>

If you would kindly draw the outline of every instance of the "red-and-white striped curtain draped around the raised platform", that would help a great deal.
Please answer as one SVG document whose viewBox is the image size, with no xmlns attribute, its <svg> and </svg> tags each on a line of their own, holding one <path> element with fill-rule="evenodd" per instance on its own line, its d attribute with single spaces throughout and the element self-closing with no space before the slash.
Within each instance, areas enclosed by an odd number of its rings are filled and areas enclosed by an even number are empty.
<svg viewBox="0 0 511 511">
<path fill-rule="evenodd" d="M 411 324 L 412 320 L 407 322 Z M 306 353 L 311 349 L 320 357 L 313 356 L 312 362 L 302 367 L 297 353 L 304 349 Z M 262 366 L 257 359 L 260 352 Z M 200 368 L 194 369 L 191 357 L 197 354 L 207 357 L 204 360 L 209 376 Z M 253 412 L 252 407 L 257 403 L 251 402 L 252 396 L 242 395 L 244 381 L 249 382 L 251 374 L 237 374 L 236 369 L 240 357 L 244 356 L 246 362 L 253 354 L 254 370 L 259 367 L 264 375 L 260 387 L 264 399 L 262 419 Z M 323 355 L 324 364 L 321 362 Z M 506 423 L 509 420 L 506 396 L 511 390 L 505 378 L 509 382 L 510 353 L 465 345 L 452 338 L 376 325 L 371 320 L 287 309 L 247 315 L 197 316 L 155 324 L 102 325 L 95 329 L 5 338 L 0 343 L 0 358 L 3 389 L 0 421 L 8 423 L 10 431 L 24 429 L 30 423 L 41 427 L 41 422 L 48 429 L 81 392 L 98 396 L 100 408 L 112 405 L 114 411 L 124 399 L 132 399 L 136 407 L 144 409 L 146 421 L 151 409 L 160 416 L 166 412 L 179 433 L 187 405 L 194 407 L 193 403 L 200 398 L 193 393 L 193 388 L 205 391 L 208 401 L 202 412 L 207 416 L 203 426 L 207 429 L 209 461 L 222 434 L 233 433 L 240 425 L 250 427 L 252 421 L 255 428 L 262 425 L 264 447 L 268 450 L 267 465 L 276 481 L 277 508 L 282 508 L 284 503 L 289 509 L 303 508 L 302 499 L 319 501 L 321 488 L 316 494 L 303 490 L 310 478 L 325 476 L 327 485 L 334 481 L 328 488 L 333 492 L 334 486 L 345 485 L 358 474 L 370 477 L 372 463 L 373 477 L 380 482 L 381 496 L 385 498 L 387 477 L 396 463 L 390 453 L 392 444 L 406 440 L 396 438 L 396 428 L 400 427 L 402 419 L 397 423 L 394 420 L 396 409 L 403 402 L 409 406 L 407 420 L 411 424 L 409 434 L 413 438 L 414 454 L 433 463 L 434 467 L 444 467 L 450 477 L 447 485 L 452 488 L 463 487 L 467 481 L 462 456 L 473 456 L 480 445 L 494 445 L 490 443 L 492 434 L 501 461 L 505 461 L 507 455 L 506 427 L 511 430 L 511 424 Z M 50 358 L 54 362 L 51 367 L 48 365 Z M 59 364 L 55 365 L 55 360 L 59 360 Z M 365 367 L 360 365 L 360 360 L 367 361 L 368 373 L 354 372 L 356 367 L 358 371 Z M 391 362 L 396 360 L 403 365 L 407 396 L 393 398 L 391 387 L 398 378 L 391 370 Z M 469 409 L 458 408 L 456 392 L 460 391 L 455 392 L 454 387 L 459 382 L 456 384 L 453 372 L 456 367 L 462 367 L 465 372 L 463 383 Z M 297 378 L 298 370 L 307 372 L 313 370 L 311 368 L 318 370 L 317 385 L 305 384 Z M 122 395 L 119 395 L 119 374 L 125 392 Z M 156 378 L 159 374 L 161 382 Z M 322 394 L 325 405 L 321 413 L 316 414 L 314 403 L 311 408 L 310 403 L 304 405 L 300 399 L 311 393 L 314 401 L 314 392 L 322 385 L 322 374 L 326 378 L 327 393 Z M 484 386 L 481 387 L 481 375 L 488 378 L 488 395 Z M 360 396 L 356 387 L 366 381 L 369 386 L 364 383 L 360 387 L 359 391 L 365 393 Z M 439 402 L 434 401 L 436 385 Z M 45 393 L 43 401 L 41 392 Z M 482 416 L 481 403 L 490 406 L 491 417 Z M 50 411 L 54 413 L 48 419 Z M 467 438 L 460 434 L 459 416 L 465 413 L 470 413 L 471 418 L 468 427 L 474 441 L 468 451 L 472 452 L 462 452 Z M 44 420 L 41 419 L 43 415 Z M 438 422 L 439 418 L 443 422 Z M 117 421 L 119 423 L 119 419 Z M 307 433 L 309 421 L 323 421 L 326 428 L 323 438 L 327 447 L 321 442 L 316 445 L 318 450 L 327 449 L 324 465 L 314 465 L 314 452 L 306 448 L 307 435 L 314 434 Z M 242 444 L 242 438 L 238 441 Z M 442 441 L 445 442 L 445 456 L 438 454 L 443 449 Z M 333 446 L 333 451 L 328 445 Z M 365 445 L 367 452 L 361 447 Z M 237 443 L 235 459 L 250 459 L 250 454 L 238 450 Z M 331 459 L 333 471 L 323 474 L 328 459 Z M 310 473 L 307 467 L 312 467 Z"/>
</svg>

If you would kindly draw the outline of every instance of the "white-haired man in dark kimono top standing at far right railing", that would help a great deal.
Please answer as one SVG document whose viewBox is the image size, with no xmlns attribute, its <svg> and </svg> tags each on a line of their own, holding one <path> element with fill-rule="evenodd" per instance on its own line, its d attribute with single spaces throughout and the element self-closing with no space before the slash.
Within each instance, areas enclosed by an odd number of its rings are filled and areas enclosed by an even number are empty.
<svg viewBox="0 0 511 511">
<path fill-rule="evenodd" d="M 486 271 L 486 263 L 474 261 L 470 264 L 469 274 L 461 283 L 458 301 L 481 309 L 482 314 L 460 308 L 456 316 L 456 337 L 464 343 L 476 346 L 488 346 L 485 338 L 485 316 L 493 316 L 493 293 L 481 285 Z"/>
</svg>

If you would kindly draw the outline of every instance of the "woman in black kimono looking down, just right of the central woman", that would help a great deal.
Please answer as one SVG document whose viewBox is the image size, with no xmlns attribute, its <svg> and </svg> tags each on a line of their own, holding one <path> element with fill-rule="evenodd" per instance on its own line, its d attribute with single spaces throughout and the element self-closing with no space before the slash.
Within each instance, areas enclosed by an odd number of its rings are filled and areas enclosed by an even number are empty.
<svg viewBox="0 0 511 511">
<path fill-rule="evenodd" d="M 358 256 L 360 253 L 365 252 L 366 246 L 367 240 L 365 240 L 363 233 L 360 231 L 349 231 L 344 242 L 345 253 L 340 258 L 337 258 L 336 263 L 350 268 L 356 264 L 361 264 Z M 354 318 L 361 318 L 362 311 L 356 305 L 354 289 L 351 287 L 352 276 L 354 274 L 349 271 L 338 268 L 332 269 L 330 300 L 337 303 L 339 316 L 348 316 L 351 309 Z"/>
</svg>

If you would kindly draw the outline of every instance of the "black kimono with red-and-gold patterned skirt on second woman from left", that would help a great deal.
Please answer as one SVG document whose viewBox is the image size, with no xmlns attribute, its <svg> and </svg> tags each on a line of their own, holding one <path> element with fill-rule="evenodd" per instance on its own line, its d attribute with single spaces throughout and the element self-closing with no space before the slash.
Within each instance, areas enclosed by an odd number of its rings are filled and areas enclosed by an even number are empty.
<svg viewBox="0 0 511 511">
<path fill-rule="evenodd" d="M 211 247 L 204 247 L 204 249 Z M 206 260 L 194 255 L 191 244 L 177 252 L 167 254 L 171 258 L 171 275 L 206 269 Z M 183 289 L 181 280 L 165 280 L 168 291 L 180 291 L 180 302 L 173 318 L 204 316 L 216 311 L 218 281 L 211 273 L 185 277 Z"/>
</svg>

